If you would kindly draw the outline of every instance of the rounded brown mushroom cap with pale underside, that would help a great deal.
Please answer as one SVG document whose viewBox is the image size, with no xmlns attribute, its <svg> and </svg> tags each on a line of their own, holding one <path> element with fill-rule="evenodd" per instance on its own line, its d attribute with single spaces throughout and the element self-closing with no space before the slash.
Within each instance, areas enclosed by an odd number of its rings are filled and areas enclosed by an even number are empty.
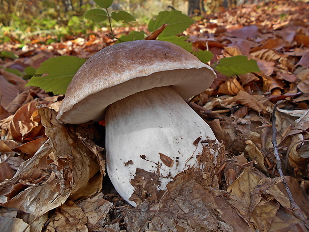
<svg viewBox="0 0 309 232">
<path fill-rule="evenodd" d="M 108 105 L 154 87 L 171 86 L 187 99 L 206 90 L 215 77 L 212 68 L 170 42 L 114 44 L 91 56 L 76 72 L 57 118 L 70 124 L 102 120 Z"/>
</svg>

